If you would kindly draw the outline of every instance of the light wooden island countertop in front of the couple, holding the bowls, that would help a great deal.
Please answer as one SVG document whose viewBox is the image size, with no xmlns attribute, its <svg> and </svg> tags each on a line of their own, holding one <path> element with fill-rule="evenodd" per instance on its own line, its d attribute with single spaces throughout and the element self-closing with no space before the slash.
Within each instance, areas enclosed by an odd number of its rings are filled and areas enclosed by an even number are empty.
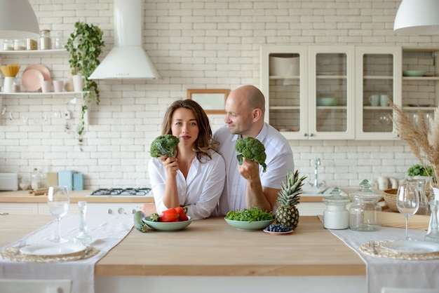
<svg viewBox="0 0 439 293">
<path fill-rule="evenodd" d="M 316 216 L 296 231 L 240 231 L 222 217 L 175 232 L 133 229 L 97 262 L 95 275 L 365 275 L 366 265 Z"/>
</svg>

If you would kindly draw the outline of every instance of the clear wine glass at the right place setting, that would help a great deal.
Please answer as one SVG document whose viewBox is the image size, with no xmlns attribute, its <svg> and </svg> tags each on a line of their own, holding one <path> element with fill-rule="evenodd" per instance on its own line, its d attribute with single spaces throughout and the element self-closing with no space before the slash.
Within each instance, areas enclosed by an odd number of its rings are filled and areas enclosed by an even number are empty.
<svg viewBox="0 0 439 293">
<path fill-rule="evenodd" d="M 419 195 L 417 185 L 414 182 L 407 181 L 406 184 L 398 187 L 396 194 L 396 207 L 405 217 L 405 240 L 411 240 L 409 237 L 409 218 L 415 214 L 419 208 Z"/>
</svg>

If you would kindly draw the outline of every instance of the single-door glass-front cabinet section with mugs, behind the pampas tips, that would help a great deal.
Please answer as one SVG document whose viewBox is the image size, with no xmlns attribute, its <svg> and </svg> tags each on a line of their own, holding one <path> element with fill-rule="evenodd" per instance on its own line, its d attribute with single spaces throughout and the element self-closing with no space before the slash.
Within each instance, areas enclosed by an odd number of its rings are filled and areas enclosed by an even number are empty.
<svg viewBox="0 0 439 293">
<path fill-rule="evenodd" d="M 356 139 L 398 139 L 387 99 L 401 104 L 400 47 L 356 48 Z"/>
</svg>

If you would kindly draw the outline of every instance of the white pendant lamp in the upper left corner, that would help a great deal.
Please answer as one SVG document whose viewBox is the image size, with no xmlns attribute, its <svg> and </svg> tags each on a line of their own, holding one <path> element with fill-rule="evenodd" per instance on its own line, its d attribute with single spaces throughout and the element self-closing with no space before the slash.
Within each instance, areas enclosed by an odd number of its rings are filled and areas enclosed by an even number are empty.
<svg viewBox="0 0 439 293">
<path fill-rule="evenodd" d="M 38 20 L 27 0 L 0 0 L 0 39 L 39 36 Z"/>
</svg>

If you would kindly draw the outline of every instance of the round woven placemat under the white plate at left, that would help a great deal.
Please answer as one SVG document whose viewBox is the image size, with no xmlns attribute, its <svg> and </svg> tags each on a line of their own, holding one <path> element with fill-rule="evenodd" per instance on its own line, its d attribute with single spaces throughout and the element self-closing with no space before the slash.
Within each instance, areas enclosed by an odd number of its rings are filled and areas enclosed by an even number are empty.
<svg viewBox="0 0 439 293">
<path fill-rule="evenodd" d="M 88 248 L 88 247 L 86 247 Z M 0 251 L 0 258 L 7 259 L 9 261 L 22 261 L 22 262 L 57 262 L 57 261 L 78 261 L 81 259 L 88 259 L 94 257 L 99 253 L 99 248 L 91 247 L 91 250 L 87 252 L 85 257 L 82 257 L 83 251 L 75 252 L 72 254 L 57 255 L 57 256 L 41 256 L 24 254 L 18 251 L 18 246 L 9 247 L 6 250 Z"/>
</svg>

